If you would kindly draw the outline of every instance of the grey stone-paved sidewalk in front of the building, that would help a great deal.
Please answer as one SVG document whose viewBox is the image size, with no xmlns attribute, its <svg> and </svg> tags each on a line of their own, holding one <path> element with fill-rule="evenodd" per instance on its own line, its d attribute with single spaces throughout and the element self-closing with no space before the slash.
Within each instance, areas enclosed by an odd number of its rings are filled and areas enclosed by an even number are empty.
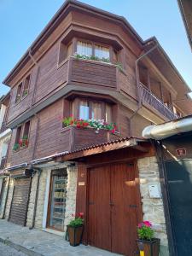
<svg viewBox="0 0 192 256">
<path fill-rule="evenodd" d="M 26 255 L 34 256 L 119 255 L 96 247 L 84 245 L 71 247 L 69 242 L 65 241 L 62 236 L 56 236 L 36 229 L 29 230 L 26 227 L 12 224 L 4 219 L 0 219 L 0 241 L 3 241 L 13 247 L 18 246 L 18 249 L 26 253 Z M 25 248 L 27 249 L 26 251 Z M 0 255 L 4 256 L 3 254 Z"/>
</svg>

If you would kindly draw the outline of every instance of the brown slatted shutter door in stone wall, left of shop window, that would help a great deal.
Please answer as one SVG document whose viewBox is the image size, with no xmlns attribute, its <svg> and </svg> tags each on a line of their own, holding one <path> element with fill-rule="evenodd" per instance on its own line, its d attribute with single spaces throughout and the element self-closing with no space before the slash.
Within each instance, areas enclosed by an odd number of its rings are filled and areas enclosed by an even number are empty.
<svg viewBox="0 0 192 256">
<path fill-rule="evenodd" d="M 25 226 L 28 208 L 28 199 L 31 188 L 31 178 L 15 180 L 14 195 L 11 202 L 9 221 Z"/>
</svg>

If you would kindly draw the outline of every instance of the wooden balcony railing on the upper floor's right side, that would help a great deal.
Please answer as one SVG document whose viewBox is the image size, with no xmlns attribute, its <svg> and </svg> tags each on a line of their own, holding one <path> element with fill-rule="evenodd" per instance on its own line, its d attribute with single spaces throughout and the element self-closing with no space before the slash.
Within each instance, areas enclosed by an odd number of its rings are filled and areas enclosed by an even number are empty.
<svg viewBox="0 0 192 256">
<path fill-rule="evenodd" d="M 177 114 L 174 113 L 172 109 L 168 108 L 164 102 L 155 96 L 153 92 L 148 90 L 142 83 L 139 84 L 139 91 L 143 102 L 147 102 L 170 120 L 178 118 Z"/>
</svg>

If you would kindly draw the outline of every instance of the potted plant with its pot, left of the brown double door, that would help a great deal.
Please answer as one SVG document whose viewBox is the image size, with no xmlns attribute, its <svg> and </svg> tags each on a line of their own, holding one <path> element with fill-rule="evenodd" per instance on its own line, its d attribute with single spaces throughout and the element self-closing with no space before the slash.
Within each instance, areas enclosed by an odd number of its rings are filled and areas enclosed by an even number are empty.
<svg viewBox="0 0 192 256">
<path fill-rule="evenodd" d="M 83 230 L 84 230 L 84 218 L 83 212 L 79 212 L 78 215 L 67 225 L 67 235 L 71 246 L 79 246 Z"/>
</svg>

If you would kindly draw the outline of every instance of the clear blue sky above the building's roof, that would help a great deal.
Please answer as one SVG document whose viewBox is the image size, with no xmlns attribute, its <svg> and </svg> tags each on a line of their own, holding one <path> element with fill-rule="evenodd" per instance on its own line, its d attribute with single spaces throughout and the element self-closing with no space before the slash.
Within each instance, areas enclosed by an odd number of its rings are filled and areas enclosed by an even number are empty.
<svg viewBox="0 0 192 256">
<path fill-rule="evenodd" d="M 0 82 L 26 52 L 64 1 L 0 0 Z M 192 89 L 192 52 L 177 0 L 83 0 L 82 2 L 123 15 L 138 34 L 155 36 Z M 0 96 L 9 87 L 0 84 Z"/>
</svg>

